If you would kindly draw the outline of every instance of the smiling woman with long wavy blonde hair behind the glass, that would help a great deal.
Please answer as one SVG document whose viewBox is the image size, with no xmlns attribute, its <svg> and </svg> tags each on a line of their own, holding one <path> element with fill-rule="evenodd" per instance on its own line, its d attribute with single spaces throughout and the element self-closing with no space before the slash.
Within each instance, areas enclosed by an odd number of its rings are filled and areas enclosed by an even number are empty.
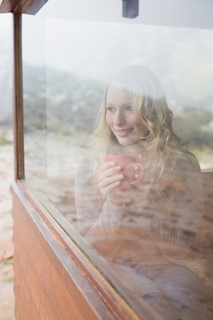
<svg viewBox="0 0 213 320">
<path fill-rule="evenodd" d="M 79 164 L 79 231 L 164 319 L 204 319 L 201 268 L 193 246 L 201 217 L 196 157 L 173 131 L 158 79 L 128 66 L 112 76 L 94 129 L 93 152 Z M 134 154 L 144 176 L 117 194 L 121 165 L 106 154 Z M 135 178 L 140 167 L 135 166 Z"/>
</svg>

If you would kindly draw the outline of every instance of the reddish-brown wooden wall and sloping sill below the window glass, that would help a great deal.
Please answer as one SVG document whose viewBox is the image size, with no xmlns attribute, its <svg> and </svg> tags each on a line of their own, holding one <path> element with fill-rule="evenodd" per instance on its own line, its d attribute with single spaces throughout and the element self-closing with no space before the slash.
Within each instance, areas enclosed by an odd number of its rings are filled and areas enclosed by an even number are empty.
<svg viewBox="0 0 213 320">
<path fill-rule="evenodd" d="M 119 279 L 108 282 L 23 181 L 11 189 L 17 320 L 160 319 L 145 301 L 125 302 Z"/>
</svg>

